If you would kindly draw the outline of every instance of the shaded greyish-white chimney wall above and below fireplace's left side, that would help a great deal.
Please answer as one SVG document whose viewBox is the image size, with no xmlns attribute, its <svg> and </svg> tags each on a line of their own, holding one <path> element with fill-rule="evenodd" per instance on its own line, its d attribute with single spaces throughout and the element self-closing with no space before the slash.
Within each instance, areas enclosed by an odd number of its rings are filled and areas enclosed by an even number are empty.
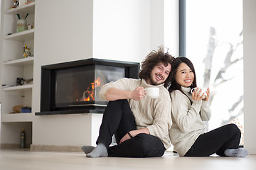
<svg viewBox="0 0 256 170">
<path fill-rule="evenodd" d="M 92 57 L 92 0 L 37 0 L 33 112 L 40 111 L 41 66 Z M 33 145 L 90 144 L 92 115 L 35 116 Z M 89 127 L 89 128 L 88 128 Z"/>
</svg>

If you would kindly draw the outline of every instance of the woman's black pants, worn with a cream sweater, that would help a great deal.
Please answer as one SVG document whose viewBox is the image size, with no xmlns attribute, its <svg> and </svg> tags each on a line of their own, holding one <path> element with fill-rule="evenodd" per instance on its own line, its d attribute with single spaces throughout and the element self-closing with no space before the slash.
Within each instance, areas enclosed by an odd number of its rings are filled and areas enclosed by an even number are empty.
<svg viewBox="0 0 256 170">
<path fill-rule="evenodd" d="M 241 132 L 237 125 L 224 125 L 200 135 L 184 157 L 208 157 L 214 153 L 225 157 L 225 149 L 239 147 L 240 137 Z"/>
</svg>

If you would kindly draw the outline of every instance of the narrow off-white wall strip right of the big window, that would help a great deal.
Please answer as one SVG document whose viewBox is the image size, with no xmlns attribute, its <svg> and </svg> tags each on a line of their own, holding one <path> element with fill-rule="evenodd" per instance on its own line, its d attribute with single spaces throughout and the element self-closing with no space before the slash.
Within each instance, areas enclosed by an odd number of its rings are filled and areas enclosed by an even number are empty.
<svg viewBox="0 0 256 170">
<path fill-rule="evenodd" d="M 245 148 L 256 154 L 256 1 L 243 0 Z"/>
</svg>

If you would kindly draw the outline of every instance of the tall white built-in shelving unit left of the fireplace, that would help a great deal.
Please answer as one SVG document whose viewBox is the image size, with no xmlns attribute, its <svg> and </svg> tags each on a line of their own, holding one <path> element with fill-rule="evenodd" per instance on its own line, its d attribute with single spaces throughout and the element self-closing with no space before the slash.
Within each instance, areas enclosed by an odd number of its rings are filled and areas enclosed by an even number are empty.
<svg viewBox="0 0 256 170">
<path fill-rule="evenodd" d="M 29 1 L 29 0 L 28 0 Z M 1 6 L 1 84 L 9 85 L 1 89 L 1 147 L 18 147 L 19 132 L 25 128 L 28 135 L 26 146 L 32 144 L 33 84 L 16 85 L 17 78 L 33 79 L 34 57 L 23 58 L 23 46 L 27 45 L 34 54 L 35 29 L 16 33 L 17 13 L 26 18 L 27 24 L 35 26 L 36 2 L 11 8 L 13 0 L 2 0 Z M 36 27 L 36 26 L 35 26 Z M 14 106 L 31 107 L 31 113 L 14 113 Z"/>
</svg>

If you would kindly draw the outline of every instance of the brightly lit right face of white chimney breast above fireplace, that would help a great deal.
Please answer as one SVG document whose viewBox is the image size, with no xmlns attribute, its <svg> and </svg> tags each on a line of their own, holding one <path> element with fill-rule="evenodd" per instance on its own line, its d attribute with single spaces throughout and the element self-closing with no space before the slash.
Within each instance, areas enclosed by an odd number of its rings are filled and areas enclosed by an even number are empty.
<svg viewBox="0 0 256 170">
<path fill-rule="evenodd" d="M 93 1 L 93 57 L 142 62 L 151 51 L 149 0 Z"/>
</svg>

